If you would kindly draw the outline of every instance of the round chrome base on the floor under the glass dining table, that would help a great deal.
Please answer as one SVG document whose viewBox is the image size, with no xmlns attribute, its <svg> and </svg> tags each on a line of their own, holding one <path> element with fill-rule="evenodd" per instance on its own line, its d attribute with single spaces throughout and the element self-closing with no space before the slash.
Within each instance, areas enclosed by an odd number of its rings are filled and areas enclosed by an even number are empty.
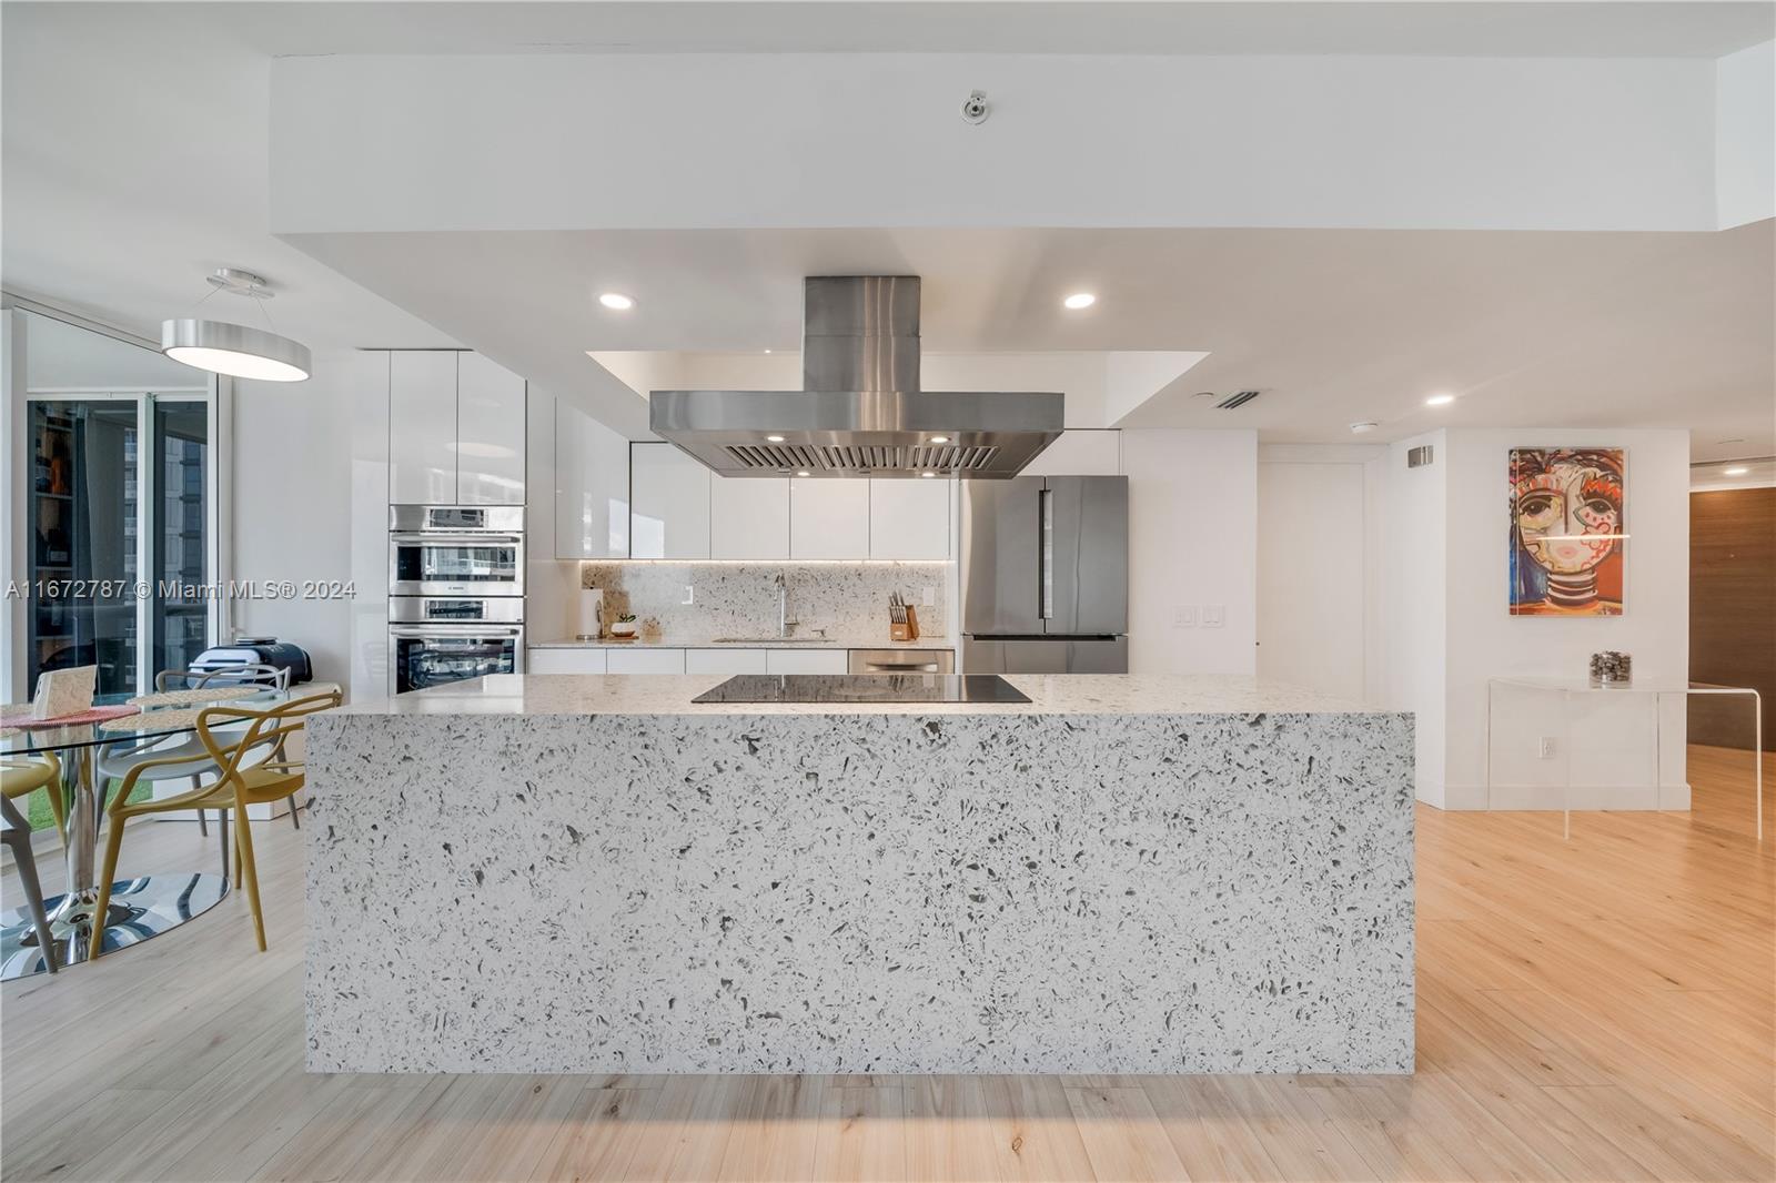
<svg viewBox="0 0 1776 1183">
<path fill-rule="evenodd" d="M 160 936 L 167 929 L 176 929 L 192 917 L 210 911 L 227 895 L 229 885 L 222 876 L 206 874 L 165 874 L 144 876 L 140 879 L 117 879 L 112 883 L 112 901 L 107 909 L 103 929 L 103 952 L 114 952 L 128 945 Z M 50 913 L 50 934 L 55 938 L 55 950 L 62 965 L 91 959 L 92 952 L 92 906 L 98 902 L 96 890 L 76 895 L 55 895 L 44 901 Z M 0 929 L 0 982 L 9 982 L 32 973 L 48 972 L 48 963 L 37 949 L 37 931 L 30 924 L 30 911 L 25 908 L 7 909 Z"/>
</svg>

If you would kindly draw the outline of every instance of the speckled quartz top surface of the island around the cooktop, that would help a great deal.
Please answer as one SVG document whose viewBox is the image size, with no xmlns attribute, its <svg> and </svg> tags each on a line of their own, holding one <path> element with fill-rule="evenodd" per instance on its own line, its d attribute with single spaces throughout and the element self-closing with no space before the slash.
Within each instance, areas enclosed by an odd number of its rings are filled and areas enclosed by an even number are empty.
<svg viewBox="0 0 1776 1183">
<path fill-rule="evenodd" d="M 1012 673 L 1028 703 L 693 703 L 726 673 L 496 673 L 334 714 L 1385 714 L 1330 695 L 1234 675 Z"/>
</svg>

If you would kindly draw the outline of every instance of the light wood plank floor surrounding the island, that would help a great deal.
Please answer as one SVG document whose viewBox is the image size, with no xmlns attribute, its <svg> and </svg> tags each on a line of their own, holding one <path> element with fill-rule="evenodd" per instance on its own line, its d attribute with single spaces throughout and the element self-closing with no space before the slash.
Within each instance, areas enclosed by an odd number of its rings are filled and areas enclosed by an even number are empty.
<svg viewBox="0 0 1776 1183">
<path fill-rule="evenodd" d="M 1419 810 L 1419 1071 L 1346 1076 L 307 1076 L 302 847 L 0 989 L 7 1179 L 1771 1179 L 1776 844 L 1748 753 L 1693 814 Z M 1776 794 L 1776 758 L 1767 773 Z M 1776 817 L 1767 819 L 1776 833 Z M 147 824 L 124 870 L 211 867 Z M 59 885 L 60 870 L 48 876 Z M 9 901 L 16 899 L 7 885 Z"/>
</svg>

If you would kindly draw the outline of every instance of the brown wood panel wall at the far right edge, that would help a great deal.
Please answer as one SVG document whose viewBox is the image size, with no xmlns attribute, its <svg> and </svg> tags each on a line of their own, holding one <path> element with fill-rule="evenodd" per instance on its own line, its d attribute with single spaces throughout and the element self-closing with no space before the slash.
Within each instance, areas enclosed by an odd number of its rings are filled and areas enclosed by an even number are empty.
<svg viewBox="0 0 1776 1183">
<path fill-rule="evenodd" d="M 1755 686 L 1776 746 L 1776 488 L 1689 496 L 1689 677 Z M 1689 700 L 1689 742 L 1749 748 L 1744 698 Z"/>
</svg>

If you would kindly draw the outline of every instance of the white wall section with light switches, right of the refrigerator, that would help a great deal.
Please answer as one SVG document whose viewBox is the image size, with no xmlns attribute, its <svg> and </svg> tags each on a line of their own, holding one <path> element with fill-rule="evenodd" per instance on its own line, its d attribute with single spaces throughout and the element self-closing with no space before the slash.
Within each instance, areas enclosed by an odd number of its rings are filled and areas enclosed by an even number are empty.
<svg viewBox="0 0 1776 1183">
<path fill-rule="evenodd" d="M 1122 472 L 1130 673 L 1256 673 L 1257 432 L 1122 432 Z M 1176 627 L 1185 606 L 1195 627 Z"/>
</svg>

